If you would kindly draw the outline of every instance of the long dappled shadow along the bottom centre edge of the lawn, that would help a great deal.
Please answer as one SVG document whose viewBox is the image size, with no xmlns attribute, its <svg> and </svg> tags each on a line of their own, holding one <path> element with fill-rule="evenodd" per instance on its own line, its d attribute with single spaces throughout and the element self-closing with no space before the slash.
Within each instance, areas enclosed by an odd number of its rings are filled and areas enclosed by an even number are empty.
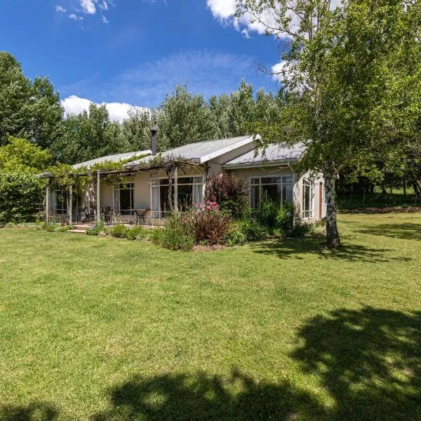
<svg viewBox="0 0 421 421">
<path fill-rule="evenodd" d="M 232 392 L 233 389 L 237 392 Z M 323 420 L 317 401 L 287 382 L 256 382 L 238 370 L 219 375 L 135 376 L 111 390 L 111 408 L 91 421 Z"/>
</svg>

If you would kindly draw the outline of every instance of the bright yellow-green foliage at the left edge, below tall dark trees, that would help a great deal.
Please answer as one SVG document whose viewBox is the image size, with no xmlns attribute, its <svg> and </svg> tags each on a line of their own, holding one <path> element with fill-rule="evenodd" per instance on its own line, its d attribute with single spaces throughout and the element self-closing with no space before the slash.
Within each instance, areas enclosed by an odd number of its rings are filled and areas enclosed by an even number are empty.
<svg viewBox="0 0 421 421">
<path fill-rule="evenodd" d="M 0 146 L 1 171 L 25 171 L 39 173 L 51 163 L 48 151 L 25 139 L 8 138 L 8 144 Z"/>
</svg>

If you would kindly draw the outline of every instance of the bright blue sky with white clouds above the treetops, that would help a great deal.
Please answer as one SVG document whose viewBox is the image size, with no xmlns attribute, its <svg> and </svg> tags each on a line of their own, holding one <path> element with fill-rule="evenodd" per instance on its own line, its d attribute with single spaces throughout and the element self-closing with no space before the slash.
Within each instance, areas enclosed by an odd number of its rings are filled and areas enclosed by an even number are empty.
<svg viewBox="0 0 421 421">
<path fill-rule="evenodd" d="M 276 92 L 258 70 L 278 64 L 283 44 L 234 19 L 235 0 L 13 0 L 0 5 L 0 51 L 33 78 L 46 75 L 67 113 L 106 103 L 156 107 L 177 83 L 205 98 L 246 79 Z"/>
</svg>

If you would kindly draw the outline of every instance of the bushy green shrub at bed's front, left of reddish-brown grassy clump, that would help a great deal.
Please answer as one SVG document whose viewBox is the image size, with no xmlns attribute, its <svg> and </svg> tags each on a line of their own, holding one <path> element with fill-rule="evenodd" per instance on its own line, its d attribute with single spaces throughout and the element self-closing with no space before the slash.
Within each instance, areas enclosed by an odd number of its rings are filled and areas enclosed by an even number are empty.
<svg viewBox="0 0 421 421">
<path fill-rule="evenodd" d="M 174 214 L 166 220 L 164 228 L 157 228 L 151 234 L 154 244 L 169 250 L 192 250 L 194 246 L 194 232 L 192 227 L 185 224 L 182 215 Z"/>
</svg>

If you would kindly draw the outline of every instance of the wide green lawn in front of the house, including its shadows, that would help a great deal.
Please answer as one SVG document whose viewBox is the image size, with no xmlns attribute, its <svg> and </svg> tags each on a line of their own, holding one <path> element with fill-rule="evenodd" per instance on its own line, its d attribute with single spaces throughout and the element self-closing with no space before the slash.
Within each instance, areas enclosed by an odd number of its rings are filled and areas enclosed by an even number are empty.
<svg viewBox="0 0 421 421">
<path fill-rule="evenodd" d="M 421 215 L 210 253 L 0 229 L 0 420 L 421 420 Z"/>
</svg>

